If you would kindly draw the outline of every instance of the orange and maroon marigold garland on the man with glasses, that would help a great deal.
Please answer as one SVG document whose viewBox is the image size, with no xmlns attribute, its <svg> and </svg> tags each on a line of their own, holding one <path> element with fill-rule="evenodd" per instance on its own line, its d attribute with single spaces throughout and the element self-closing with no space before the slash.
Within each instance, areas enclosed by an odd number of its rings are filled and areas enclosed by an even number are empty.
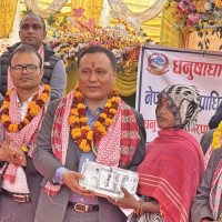
<svg viewBox="0 0 222 222">
<path fill-rule="evenodd" d="M 47 103 L 49 98 L 50 87 L 48 84 L 44 84 L 44 90 L 39 95 L 39 92 L 37 92 L 33 97 L 33 100 L 28 105 L 28 112 L 24 115 L 24 119 L 20 123 L 11 123 L 11 119 L 9 117 L 9 104 L 10 104 L 10 94 L 12 93 L 12 90 L 9 90 L 4 97 L 3 104 L 1 107 L 1 122 L 3 127 L 9 132 L 19 132 L 21 131 L 27 124 L 29 124 L 32 119 L 38 115 L 42 109 L 42 107 Z"/>
</svg>

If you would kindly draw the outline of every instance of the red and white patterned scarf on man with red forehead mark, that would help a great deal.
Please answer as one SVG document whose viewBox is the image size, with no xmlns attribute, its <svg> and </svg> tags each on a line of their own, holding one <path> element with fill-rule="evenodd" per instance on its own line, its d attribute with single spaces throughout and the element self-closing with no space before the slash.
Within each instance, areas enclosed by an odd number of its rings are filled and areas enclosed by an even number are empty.
<svg viewBox="0 0 222 222">
<path fill-rule="evenodd" d="M 68 122 L 73 101 L 73 91 L 64 97 L 54 114 L 51 144 L 56 158 L 64 165 L 67 159 L 70 124 Z M 98 157 L 95 162 L 110 167 L 128 168 L 132 161 L 138 142 L 140 141 L 139 128 L 134 113 L 121 99 L 118 112 L 108 133 L 97 142 Z M 44 191 L 56 195 L 61 185 L 46 184 Z"/>
</svg>

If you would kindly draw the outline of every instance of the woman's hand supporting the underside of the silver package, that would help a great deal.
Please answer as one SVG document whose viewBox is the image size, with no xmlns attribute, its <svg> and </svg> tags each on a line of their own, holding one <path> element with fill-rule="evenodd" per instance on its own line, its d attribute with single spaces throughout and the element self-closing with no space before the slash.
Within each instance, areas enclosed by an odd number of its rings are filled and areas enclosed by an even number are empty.
<svg viewBox="0 0 222 222">
<path fill-rule="evenodd" d="M 108 201 L 119 208 L 123 209 L 135 209 L 137 208 L 137 200 L 135 198 L 128 192 L 127 189 L 121 188 L 122 192 L 124 193 L 123 198 L 110 198 L 108 196 Z"/>
</svg>

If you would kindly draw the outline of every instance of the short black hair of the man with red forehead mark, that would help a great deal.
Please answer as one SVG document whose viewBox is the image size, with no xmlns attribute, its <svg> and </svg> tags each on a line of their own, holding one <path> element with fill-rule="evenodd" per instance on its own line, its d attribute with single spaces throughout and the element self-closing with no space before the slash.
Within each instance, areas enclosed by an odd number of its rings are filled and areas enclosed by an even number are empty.
<svg viewBox="0 0 222 222">
<path fill-rule="evenodd" d="M 83 49 L 79 56 L 78 56 L 78 68 L 80 67 L 80 60 L 82 59 L 82 57 L 84 54 L 88 53 L 104 53 L 108 56 L 108 58 L 110 59 L 110 63 L 112 67 L 112 70 L 115 71 L 117 70 L 117 59 L 115 56 L 112 53 L 112 51 L 110 51 L 109 49 L 104 48 L 104 47 L 100 47 L 100 46 L 93 46 L 93 47 L 89 47 L 87 49 Z"/>
</svg>

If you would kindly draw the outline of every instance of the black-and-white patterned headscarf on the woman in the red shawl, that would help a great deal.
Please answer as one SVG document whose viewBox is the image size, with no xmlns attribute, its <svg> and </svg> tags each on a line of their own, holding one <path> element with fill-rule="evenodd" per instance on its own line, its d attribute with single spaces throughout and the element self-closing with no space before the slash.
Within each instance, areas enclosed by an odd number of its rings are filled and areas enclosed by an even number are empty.
<svg viewBox="0 0 222 222">
<path fill-rule="evenodd" d="M 158 98 L 164 98 L 174 118 L 174 129 L 190 130 L 196 124 L 200 111 L 200 92 L 194 85 L 172 84 L 162 90 Z"/>
</svg>

